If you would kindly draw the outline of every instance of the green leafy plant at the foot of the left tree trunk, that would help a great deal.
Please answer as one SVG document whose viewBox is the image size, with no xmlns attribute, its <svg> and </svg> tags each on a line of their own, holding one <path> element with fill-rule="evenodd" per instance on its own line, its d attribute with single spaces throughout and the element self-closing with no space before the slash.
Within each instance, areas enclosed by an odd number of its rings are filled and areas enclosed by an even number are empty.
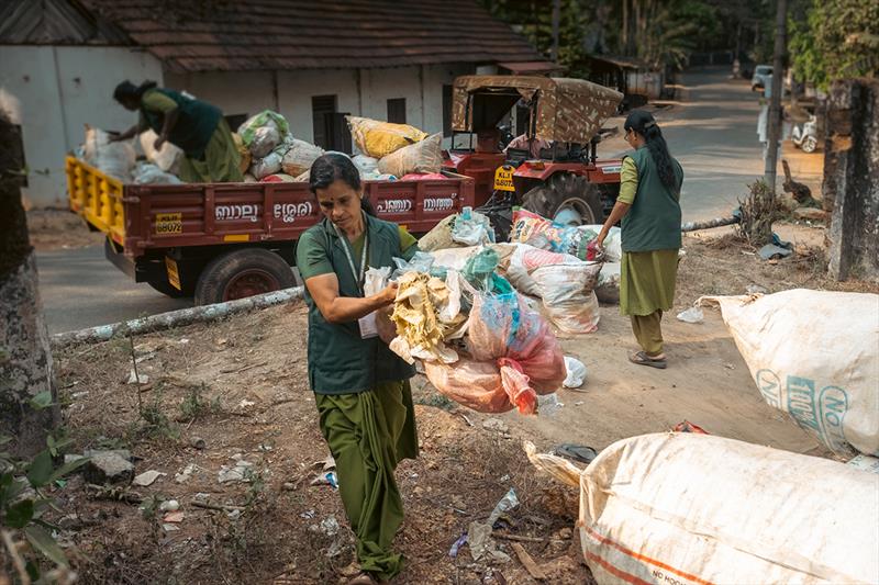
<svg viewBox="0 0 879 585">
<path fill-rule="evenodd" d="M 47 408 L 52 398 L 32 401 L 36 408 Z M 10 442 L 9 437 L 0 437 L 0 446 Z M 60 455 L 60 449 L 69 441 L 59 441 L 51 436 L 46 441 L 46 449 L 40 451 L 32 459 L 13 458 L 10 453 L 0 452 L 0 529 L 10 533 L 13 542 L 25 540 L 30 547 L 16 544 L 15 554 L 26 564 L 27 577 L 31 581 L 43 583 L 52 582 L 59 576 L 59 572 L 68 567 L 67 556 L 46 528 L 52 525 L 43 520 L 43 513 L 53 500 L 44 494 L 44 490 L 58 482 L 65 475 L 73 473 L 88 462 L 81 458 L 71 463 L 56 466 L 54 458 Z M 11 554 L 11 551 L 4 551 Z M 5 554 L 0 555 L 5 559 Z M 46 562 L 52 569 L 44 572 Z M 9 567 L 0 564 L 0 573 Z M 24 575 L 19 575 L 23 578 Z"/>
</svg>

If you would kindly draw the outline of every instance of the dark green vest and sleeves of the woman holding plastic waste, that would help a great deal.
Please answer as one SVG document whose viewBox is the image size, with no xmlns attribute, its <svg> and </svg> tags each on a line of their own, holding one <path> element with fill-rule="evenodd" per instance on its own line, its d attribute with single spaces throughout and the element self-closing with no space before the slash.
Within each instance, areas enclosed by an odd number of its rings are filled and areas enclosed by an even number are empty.
<svg viewBox="0 0 879 585">
<path fill-rule="evenodd" d="M 414 238 L 401 232 L 396 224 L 371 215 L 365 217 L 369 233 L 368 266 L 393 267 L 394 257 L 408 260 L 418 251 Z M 408 237 L 404 238 L 402 234 Z M 404 247 L 404 244 L 409 245 Z M 347 243 L 343 241 L 329 220 L 324 218 L 310 227 L 297 244 L 297 266 L 302 279 L 335 273 L 341 296 L 361 296 L 345 246 Z M 359 248 L 359 251 L 352 254 L 358 273 L 363 241 Z M 363 339 L 357 320 L 327 322 L 308 288 L 305 303 L 309 305 L 309 383 L 315 393 L 353 394 L 375 389 L 383 382 L 408 380 L 414 375 L 414 369 L 388 349 L 381 339 Z"/>
</svg>

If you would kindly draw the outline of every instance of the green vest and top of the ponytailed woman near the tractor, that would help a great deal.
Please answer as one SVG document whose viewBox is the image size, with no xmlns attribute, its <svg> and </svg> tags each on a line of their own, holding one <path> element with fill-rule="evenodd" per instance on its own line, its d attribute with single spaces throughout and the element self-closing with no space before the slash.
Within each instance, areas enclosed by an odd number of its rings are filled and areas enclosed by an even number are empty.
<svg viewBox="0 0 879 585">
<path fill-rule="evenodd" d="M 683 169 L 671 159 L 677 179 L 676 188 L 667 188 L 659 179 L 653 156 L 647 147 L 626 155 L 621 169 L 620 201 L 632 207 L 623 216 L 621 240 L 623 251 L 678 249 L 680 233 L 680 185 Z M 632 166 L 637 178 L 632 178 Z M 633 182 L 635 193 L 632 195 Z"/>
</svg>

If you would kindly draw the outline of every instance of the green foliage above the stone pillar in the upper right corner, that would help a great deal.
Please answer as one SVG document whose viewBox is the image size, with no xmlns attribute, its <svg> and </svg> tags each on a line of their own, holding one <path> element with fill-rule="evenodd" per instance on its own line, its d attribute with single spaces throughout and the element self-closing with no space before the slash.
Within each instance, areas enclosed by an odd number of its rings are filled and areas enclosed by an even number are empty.
<svg viewBox="0 0 879 585">
<path fill-rule="evenodd" d="M 827 89 L 834 79 L 879 74 L 879 2 L 812 0 L 790 30 L 788 52 L 803 81 Z"/>
</svg>

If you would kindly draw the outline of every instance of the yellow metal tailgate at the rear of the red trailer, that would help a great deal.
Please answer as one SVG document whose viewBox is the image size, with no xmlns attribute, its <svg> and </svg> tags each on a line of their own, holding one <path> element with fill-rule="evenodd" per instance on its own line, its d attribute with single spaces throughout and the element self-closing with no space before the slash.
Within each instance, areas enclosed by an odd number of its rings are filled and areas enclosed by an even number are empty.
<svg viewBox="0 0 879 585">
<path fill-rule="evenodd" d="M 123 183 L 76 157 L 67 157 L 67 198 L 70 210 L 120 246 L 125 240 Z"/>
</svg>

